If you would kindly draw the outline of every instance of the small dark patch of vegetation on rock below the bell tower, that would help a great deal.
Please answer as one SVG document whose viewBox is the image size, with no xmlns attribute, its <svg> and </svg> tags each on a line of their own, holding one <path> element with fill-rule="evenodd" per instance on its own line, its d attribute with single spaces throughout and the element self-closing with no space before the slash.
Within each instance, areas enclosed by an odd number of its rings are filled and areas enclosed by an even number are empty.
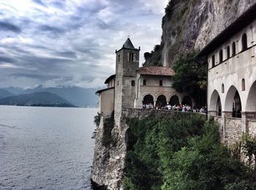
<svg viewBox="0 0 256 190">
<path fill-rule="evenodd" d="M 108 147 L 110 145 L 114 146 L 116 144 L 116 140 L 113 138 L 112 135 L 113 127 L 115 127 L 114 112 L 109 118 L 106 118 L 104 121 L 102 145 L 105 147 Z"/>
</svg>

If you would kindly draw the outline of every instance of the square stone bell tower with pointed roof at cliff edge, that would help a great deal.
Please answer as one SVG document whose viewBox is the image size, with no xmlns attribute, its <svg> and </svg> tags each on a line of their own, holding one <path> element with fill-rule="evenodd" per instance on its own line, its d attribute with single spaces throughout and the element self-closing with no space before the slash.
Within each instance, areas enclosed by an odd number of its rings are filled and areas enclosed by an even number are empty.
<svg viewBox="0 0 256 190">
<path fill-rule="evenodd" d="M 120 121 L 122 108 L 134 108 L 139 68 L 140 47 L 136 49 L 127 38 L 116 50 L 115 120 Z"/>
</svg>

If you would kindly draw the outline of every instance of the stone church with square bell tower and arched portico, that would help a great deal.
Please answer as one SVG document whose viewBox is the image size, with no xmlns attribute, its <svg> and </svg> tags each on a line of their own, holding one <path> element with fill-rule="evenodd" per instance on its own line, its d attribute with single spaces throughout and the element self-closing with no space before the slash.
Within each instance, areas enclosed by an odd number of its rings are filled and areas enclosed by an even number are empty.
<svg viewBox="0 0 256 190">
<path fill-rule="evenodd" d="M 122 108 L 142 108 L 179 104 L 193 105 L 187 95 L 176 92 L 172 87 L 175 74 L 169 67 L 139 68 L 140 47 L 136 49 L 128 38 L 120 50 L 116 50 L 116 74 L 106 79 L 107 88 L 97 91 L 99 113 L 109 116 L 115 110 L 115 120 L 121 117 Z M 195 104 L 195 103 L 194 103 Z"/>
</svg>

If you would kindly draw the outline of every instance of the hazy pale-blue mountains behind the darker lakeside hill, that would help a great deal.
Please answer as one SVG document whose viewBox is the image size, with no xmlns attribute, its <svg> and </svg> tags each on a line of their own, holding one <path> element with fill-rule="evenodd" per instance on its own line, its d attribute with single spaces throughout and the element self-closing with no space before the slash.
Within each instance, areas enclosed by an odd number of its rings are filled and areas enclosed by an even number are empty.
<svg viewBox="0 0 256 190">
<path fill-rule="evenodd" d="M 15 95 L 29 94 L 33 92 L 50 92 L 59 95 L 61 98 L 66 99 L 69 103 L 75 106 L 97 106 L 98 97 L 95 95 L 96 88 L 80 88 L 80 87 L 49 87 L 42 86 L 34 89 L 22 90 L 18 87 L 4 88 Z"/>
</svg>

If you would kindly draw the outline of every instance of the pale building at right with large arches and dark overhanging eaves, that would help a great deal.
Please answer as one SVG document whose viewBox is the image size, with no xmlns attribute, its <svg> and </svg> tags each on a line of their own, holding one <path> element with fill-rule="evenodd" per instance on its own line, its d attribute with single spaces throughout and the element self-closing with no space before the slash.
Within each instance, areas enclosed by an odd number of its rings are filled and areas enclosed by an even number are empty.
<svg viewBox="0 0 256 190">
<path fill-rule="evenodd" d="M 223 140 L 256 135 L 256 4 L 197 56 L 208 58 L 208 115 L 221 125 Z"/>
</svg>

